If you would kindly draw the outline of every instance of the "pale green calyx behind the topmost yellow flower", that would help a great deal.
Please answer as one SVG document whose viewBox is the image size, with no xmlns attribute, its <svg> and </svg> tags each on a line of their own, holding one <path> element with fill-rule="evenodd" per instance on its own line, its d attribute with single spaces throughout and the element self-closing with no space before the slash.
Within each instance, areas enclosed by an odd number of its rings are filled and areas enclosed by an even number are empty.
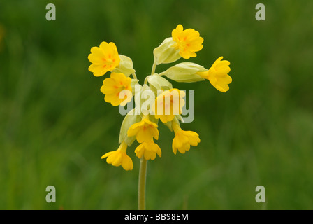
<svg viewBox="0 0 313 224">
<path fill-rule="evenodd" d="M 168 64 L 180 59 L 180 50 L 173 48 L 173 45 L 175 45 L 175 41 L 173 41 L 173 38 L 169 37 L 166 38 L 159 47 L 154 48 L 154 61 L 157 65 Z"/>
</svg>

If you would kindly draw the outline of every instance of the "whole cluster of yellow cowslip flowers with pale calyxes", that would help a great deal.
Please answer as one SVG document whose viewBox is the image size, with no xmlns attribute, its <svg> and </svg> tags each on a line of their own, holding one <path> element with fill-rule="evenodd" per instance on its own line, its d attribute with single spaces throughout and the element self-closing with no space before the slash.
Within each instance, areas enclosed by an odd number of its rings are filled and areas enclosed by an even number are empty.
<svg viewBox="0 0 313 224">
<path fill-rule="evenodd" d="M 173 153 L 185 153 L 189 151 L 190 146 L 200 143 L 196 132 L 184 131 L 180 127 L 185 92 L 173 88 L 168 79 L 183 83 L 207 79 L 217 90 L 226 92 L 229 90 L 228 84 L 232 81 L 231 76 L 228 76 L 231 71 L 230 63 L 219 57 L 210 69 L 205 69 L 199 64 L 182 62 L 161 73 L 156 73 L 155 70 L 157 65 L 172 63 L 181 57 L 196 57 L 196 52 L 202 48 L 203 38 L 198 31 L 177 25 L 172 31 L 172 36 L 154 49 L 152 73 L 145 78 L 143 85 L 138 84 L 131 58 L 119 55 L 115 43 L 102 42 L 99 47 L 91 49 L 88 59 L 92 64 L 89 71 L 94 73 L 94 76 L 103 76 L 110 71 L 110 78 L 103 80 L 100 89 L 105 94 L 105 102 L 112 106 L 125 106 L 133 98 L 139 99 L 140 102 L 123 120 L 119 148 L 102 156 L 106 158 L 106 162 L 116 167 L 122 166 L 125 170 L 133 169 L 133 161 L 126 151 L 135 140 L 139 144 L 135 149 L 138 158 L 154 160 L 157 155 L 161 157 L 161 148 L 154 142 L 159 139 L 159 120 L 175 134 L 172 142 Z M 168 79 L 163 78 L 164 76 Z M 139 90 L 137 93 L 134 91 L 136 88 Z M 145 96 L 147 90 L 152 93 L 152 97 Z M 144 104 L 150 106 L 143 109 Z M 134 113 L 138 109 L 140 113 Z"/>
</svg>

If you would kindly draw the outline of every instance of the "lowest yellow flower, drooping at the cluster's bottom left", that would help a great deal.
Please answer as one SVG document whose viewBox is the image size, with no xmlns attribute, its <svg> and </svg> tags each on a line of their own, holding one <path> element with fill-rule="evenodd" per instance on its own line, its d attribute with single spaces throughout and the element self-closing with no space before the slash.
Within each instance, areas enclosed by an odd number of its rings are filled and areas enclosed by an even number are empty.
<svg viewBox="0 0 313 224">
<path fill-rule="evenodd" d="M 133 160 L 126 154 L 126 150 L 127 144 L 123 141 L 116 151 L 105 153 L 101 159 L 107 157 L 106 162 L 108 162 L 108 164 L 112 164 L 115 167 L 122 165 L 125 170 L 132 170 Z"/>
</svg>

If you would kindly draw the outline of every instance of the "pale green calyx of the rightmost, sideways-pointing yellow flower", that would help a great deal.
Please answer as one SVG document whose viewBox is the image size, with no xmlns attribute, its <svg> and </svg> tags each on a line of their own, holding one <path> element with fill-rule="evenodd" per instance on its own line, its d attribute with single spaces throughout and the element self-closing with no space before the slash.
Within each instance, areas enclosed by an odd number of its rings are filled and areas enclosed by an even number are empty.
<svg viewBox="0 0 313 224">
<path fill-rule="evenodd" d="M 208 71 L 208 69 L 205 69 L 199 64 L 182 62 L 163 71 L 160 73 L 160 76 L 166 76 L 167 78 L 180 83 L 194 83 L 205 80 L 196 74 L 199 71 Z"/>
</svg>

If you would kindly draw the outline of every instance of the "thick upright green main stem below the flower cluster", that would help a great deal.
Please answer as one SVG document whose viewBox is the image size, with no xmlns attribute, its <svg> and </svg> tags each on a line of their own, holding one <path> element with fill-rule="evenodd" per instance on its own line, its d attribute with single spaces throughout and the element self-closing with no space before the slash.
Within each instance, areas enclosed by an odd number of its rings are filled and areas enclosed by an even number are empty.
<svg viewBox="0 0 313 224">
<path fill-rule="evenodd" d="M 147 160 L 140 159 L 138 181 L 138 210 L 145 210 L 145 180 L 147 179 Z"/>
</svg>

